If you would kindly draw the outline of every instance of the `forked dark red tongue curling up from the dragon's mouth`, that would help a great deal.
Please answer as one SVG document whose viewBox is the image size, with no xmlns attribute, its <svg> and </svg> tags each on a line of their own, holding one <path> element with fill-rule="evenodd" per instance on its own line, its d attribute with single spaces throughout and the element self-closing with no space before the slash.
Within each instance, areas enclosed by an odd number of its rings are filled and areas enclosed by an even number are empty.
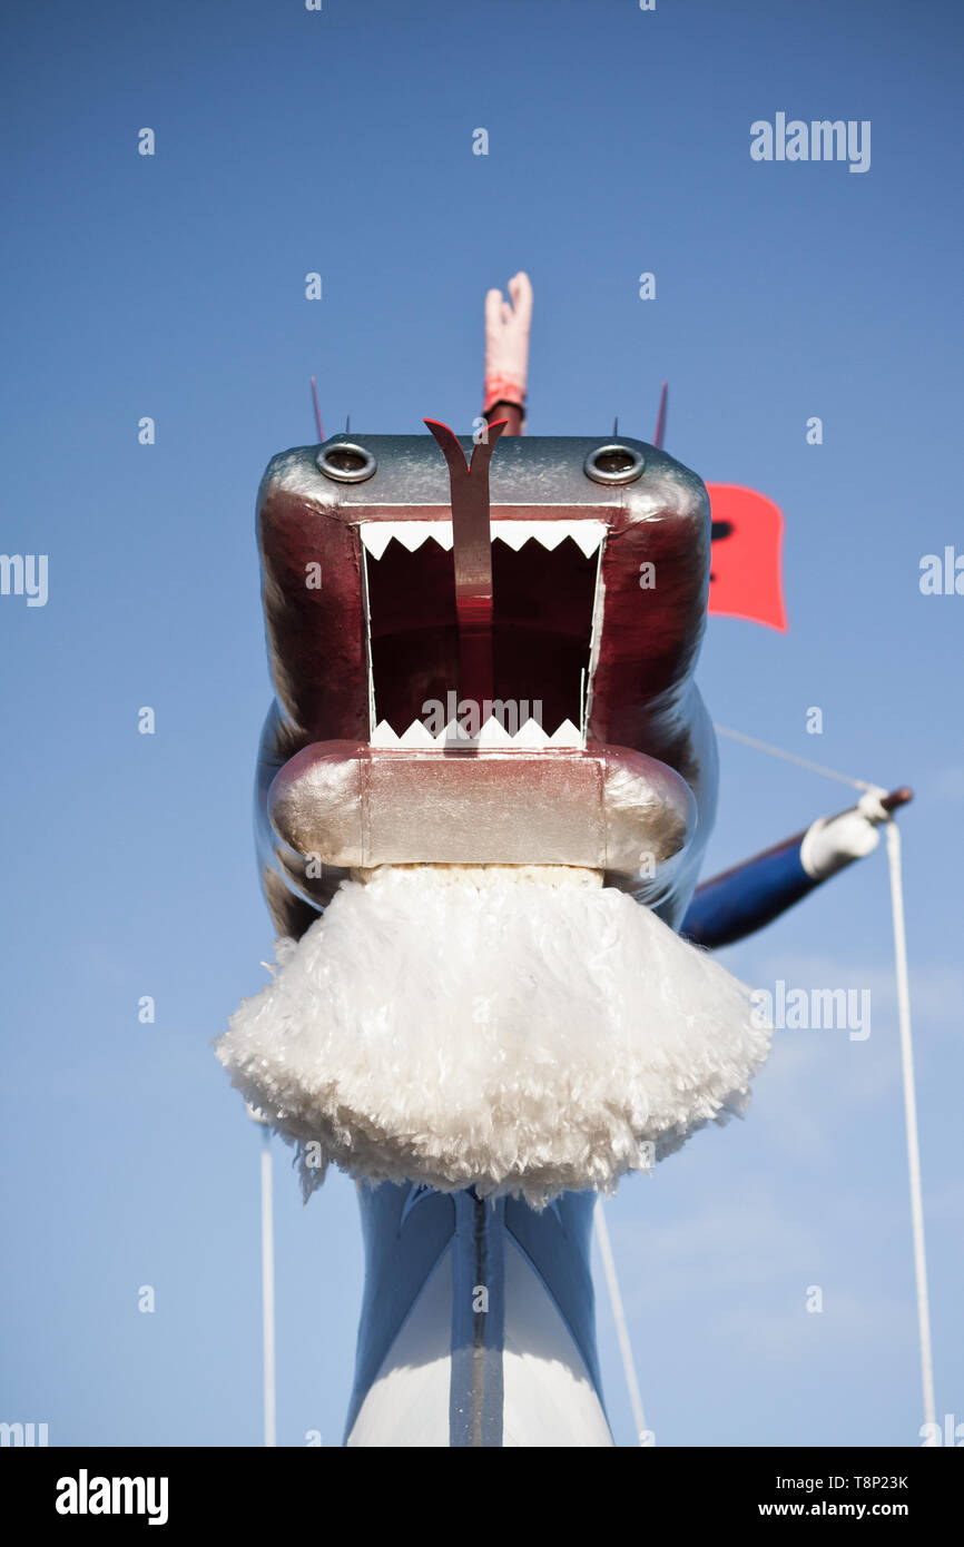
<svg viewBox="0 0 964 1547">
<path fill-rule="evenodd" d="M 492 534 L 489 529 L 489 461 L 506 419 L 477 441 L 472 461 L 447 424 L 424 421 L 438 441 L 452 489 L 452 554 L 458 616 L 460 698 L 492 702 Z"/>
</svg>

